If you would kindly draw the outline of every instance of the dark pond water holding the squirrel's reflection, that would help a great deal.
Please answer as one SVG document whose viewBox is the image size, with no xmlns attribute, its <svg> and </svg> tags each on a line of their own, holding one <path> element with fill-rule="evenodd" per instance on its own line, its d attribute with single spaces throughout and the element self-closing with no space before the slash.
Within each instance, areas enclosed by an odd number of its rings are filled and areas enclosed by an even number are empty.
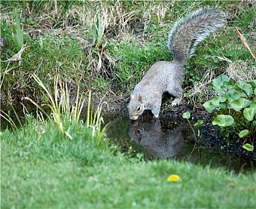
<svg viewBox="0 0 256 209">
<path fill-rule="evenodd" d="M 112 121 L 107 134 L 112 143 L 121 147 L 122 152 L 133 157 L 142 153 L 146 161 L 174 158 L 236 172 L 255 170 L 255 156 L 245 158 L 236 155 L 235 150 L 228 152 L 224 149 L 225 143 L 220 140 L 220 133 L 212 127 L 207 128 L 207 131 L 201 130 L 203 137 L 196 142 L 185 119 L 164 121 L 144 115 L 143 120 L 130 121 L 128 117 L 123 117 Z"/>
</svg>

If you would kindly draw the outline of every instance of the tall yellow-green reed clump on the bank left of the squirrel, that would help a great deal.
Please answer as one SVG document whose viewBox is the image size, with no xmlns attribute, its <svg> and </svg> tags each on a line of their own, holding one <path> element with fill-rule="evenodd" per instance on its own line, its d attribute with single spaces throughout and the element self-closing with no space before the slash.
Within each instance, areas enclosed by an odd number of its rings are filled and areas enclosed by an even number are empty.
<svg viewBox="0 0 256 209">
<path fill-rule="evenodd" d="M 42 113 L 47 116 L 48 120 L 53 126 L 57 127 L 59 136 L 67 136 L 69 139 L 73 139 L 75 133 L 72 130 L 75 130 L 74 126 L 81 125 L 83 126 L 83 119 L 80 118 L 81 111 L 83 109 L 86 98 L 84 94 L 80 95 L 80 87 L 77 88 L 77 96 L 75 102 L 71 102 L 71 93 L 68 89 L 68 84 L 62 84 L 59 81 L 59 76 L 57 75 L 54 78 L 54 90 L 53 93 L 47 88 L 38 76 L 33 75 L 35 81 L 42 87 L 42 93 L 47 99 L 47 102 L 38 105 L 29 97 L 25 97 L 26 100 L 29 100 L 33 105 L 38 107 L 41 110 L 40 113 L 37 112 L 37 118 L 41 118 L 41 121 L 44 121 Z M 99 147 L 102 138 L 104 137 L 105 128 L 101 127 L 103 118 L 101 116 L 102 107 L 99 105 L 97 109 L 93 112 L 93 105 L 91 105 L 91 91 L 89 91 L 89 100 L 87 105 L 87 121 L 86 127 L 88 135 L 87 138 L 91 138 L 93 145 Z M 50 113 L 44 106 L 50 109 Z"/>
</svg>

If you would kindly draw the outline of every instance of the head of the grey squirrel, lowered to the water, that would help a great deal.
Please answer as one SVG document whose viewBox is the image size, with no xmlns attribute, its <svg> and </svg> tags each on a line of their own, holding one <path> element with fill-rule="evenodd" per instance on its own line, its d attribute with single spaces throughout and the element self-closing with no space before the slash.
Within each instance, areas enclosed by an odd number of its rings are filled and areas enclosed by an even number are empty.
<svg viewBox="0 0 256 209">
<path fill-rule="evenodd" d="M 128 111 L 129 111 L 129 118 L 134 121 L 137 118 L 139 118 L 140 115 L 142 115 L 142 113 L 144 111 L 144 103 L 143 103 L 143 98 L 142 98 L 141 94 L 139 94 L 139 96 L 130 94 L 130 102 L 128 105 Z"/>
</svg>

